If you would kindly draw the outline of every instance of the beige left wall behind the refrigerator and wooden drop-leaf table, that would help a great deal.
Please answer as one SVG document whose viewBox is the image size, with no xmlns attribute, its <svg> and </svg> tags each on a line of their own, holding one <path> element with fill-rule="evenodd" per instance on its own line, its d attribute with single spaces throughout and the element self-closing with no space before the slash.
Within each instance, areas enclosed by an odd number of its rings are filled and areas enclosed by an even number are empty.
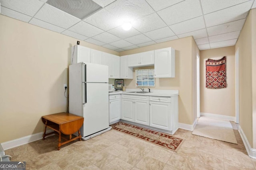
<svg viewBox="0 0 256 170">
<path fill-rule="evenodd" d="M 76 41 L 0 15 L 0 143 L 42 132 L 42 115 L 66 111 L 64 84 Z M 80 45 L 119 55 L 84 41 Z"/>
</svg>

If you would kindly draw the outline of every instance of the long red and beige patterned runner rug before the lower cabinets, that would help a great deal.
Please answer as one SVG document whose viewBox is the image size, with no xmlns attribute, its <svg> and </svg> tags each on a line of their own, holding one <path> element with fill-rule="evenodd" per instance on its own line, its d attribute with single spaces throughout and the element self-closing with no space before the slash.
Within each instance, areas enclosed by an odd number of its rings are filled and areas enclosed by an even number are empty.
<svg viewBox="0 0 256 170">
<path fill-rule="evenodd" d="M 160 147 L 170 149 L 174 152 L 177 152 L 182 143 L 184 142 L 184 139 L 173 137 L 166 133 L 153 131 L 136 125 L 131 125 L 121 121 L 110 126 L 116 131 L 126 133 L 133 137 L 137 137 L 144 141 L 158 145 Z"/>
</svg>

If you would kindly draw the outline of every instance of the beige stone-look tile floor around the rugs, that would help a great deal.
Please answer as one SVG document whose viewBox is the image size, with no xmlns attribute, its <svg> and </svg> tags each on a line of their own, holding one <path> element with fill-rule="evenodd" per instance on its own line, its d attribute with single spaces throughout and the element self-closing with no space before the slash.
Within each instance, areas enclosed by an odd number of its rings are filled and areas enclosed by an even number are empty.
<svg viewBox="0 0 256 170">
<path fill-rule="evenodd" d="M 186 139 L 178 152 L 158 147 L 118 131 L 108 131 L 88 141 L 76 141 L 57 150 L 57 136 L 6 150 L 12 161 L 26 161 L 26 169 L 42 170 L 255 170 L 237 125 L 238 145 L 212 140 L 178 129 Z"/>
</svg>

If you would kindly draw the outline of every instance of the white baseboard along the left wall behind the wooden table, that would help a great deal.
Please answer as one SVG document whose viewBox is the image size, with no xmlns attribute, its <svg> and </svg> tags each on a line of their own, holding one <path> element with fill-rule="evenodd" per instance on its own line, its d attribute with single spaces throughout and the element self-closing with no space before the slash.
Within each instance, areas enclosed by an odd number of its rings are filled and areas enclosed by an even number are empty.
<svg viewBox="0 0 256 170">
<path fill-rule="evenodd" d="M 50 133 L 50 132 L 53 132 L 53 130 L 50 129 L 50 130 L 46 131 L 46 133 Z M 2 145 L 4 150 L 12 149 L 12 148 L 18 147 L 20 145 L 24 145 L 24 144 L 27 144 L 27 143 L 30 143 L 30 142 L 40 140 L 40 139 L 43 138 L 43 134 L 44 134 L 44 132 L 36 133 L 36 134 L 33 134 L 33 135 L 28 135 L 26 137 L 21 137 L 21 138 L 18 138 L 18 139 L 14 139 L 12 141 L 7 141 L 7 142 L 4 142 L 4 143 L 1 143 L 1 145 Z M 52 134 L 52 135 L 54 135 L 54 134 Z M 49 136 L 52 136 L 52 135 L 49 135 Z M 49 137 L 49 136 L 47 136 L 47 137 Z"/>
</svg>

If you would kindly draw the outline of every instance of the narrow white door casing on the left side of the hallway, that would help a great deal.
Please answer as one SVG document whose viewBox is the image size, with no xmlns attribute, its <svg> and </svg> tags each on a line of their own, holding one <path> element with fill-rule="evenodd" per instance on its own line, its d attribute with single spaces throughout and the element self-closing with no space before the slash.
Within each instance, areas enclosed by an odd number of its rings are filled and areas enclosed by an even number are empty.
<svg viewBox="0 0 256 170">
<path fill-rule="evenodd" d="M 200 57 L 196 54 L 196 117 L 200 117 Z"/>
</svg>

